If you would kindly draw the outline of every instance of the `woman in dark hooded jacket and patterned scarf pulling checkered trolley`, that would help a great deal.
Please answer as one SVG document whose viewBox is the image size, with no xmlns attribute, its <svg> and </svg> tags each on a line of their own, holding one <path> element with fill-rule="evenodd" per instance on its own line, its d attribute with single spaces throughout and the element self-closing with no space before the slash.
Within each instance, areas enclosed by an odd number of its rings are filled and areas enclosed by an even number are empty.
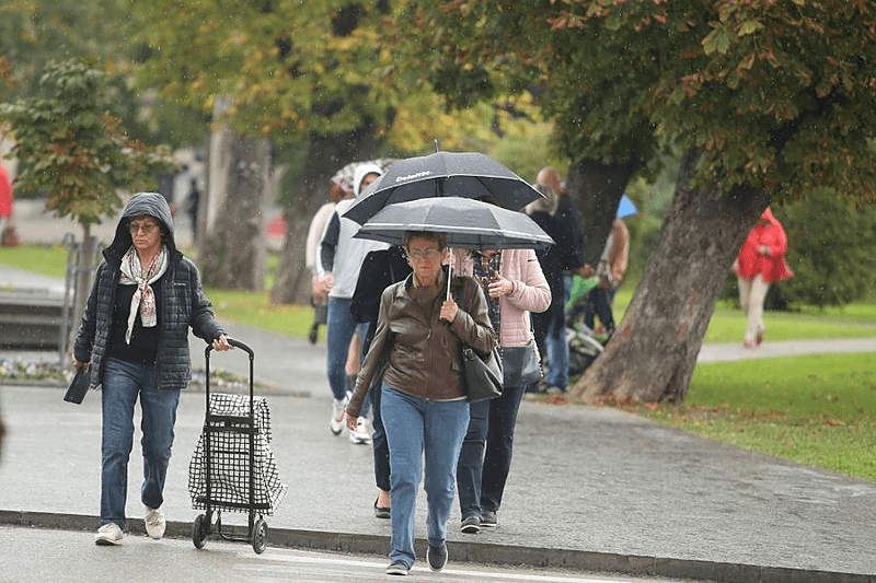
<svg viewBox="0 0 876 583">
<path fill-rule="evenodd" d="M 128 201 L 116 234 L 103 252 L 73 345 L 73 366 L 101 385 L 101 517 L 97 545 L 122 544 L 134 441 L 134 408 L 142 410 L 147 534 L 164 534 L 164 479 L 173 446 L 180 392 L 191 376 L 188 328 L 231 345 L 200 288 L 197 267 L 177 250 L 166 199 L 138 193 Z"/>
</svg>

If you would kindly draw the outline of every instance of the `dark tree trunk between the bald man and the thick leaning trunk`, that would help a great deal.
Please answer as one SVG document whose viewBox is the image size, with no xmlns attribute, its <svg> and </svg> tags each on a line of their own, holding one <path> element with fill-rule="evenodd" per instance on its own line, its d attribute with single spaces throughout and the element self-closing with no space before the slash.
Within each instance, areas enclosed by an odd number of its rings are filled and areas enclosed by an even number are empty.
<svg viewBox="0 0 876 583">
<path fill-rule="evenodd" d="M 637 167 L 633 160 L 608 164 L 585 160 L 569 166 L 566 189 L 581 211 L 586 264 L 596 267 L 599 261 L 621 196 Z"/>
</svg>

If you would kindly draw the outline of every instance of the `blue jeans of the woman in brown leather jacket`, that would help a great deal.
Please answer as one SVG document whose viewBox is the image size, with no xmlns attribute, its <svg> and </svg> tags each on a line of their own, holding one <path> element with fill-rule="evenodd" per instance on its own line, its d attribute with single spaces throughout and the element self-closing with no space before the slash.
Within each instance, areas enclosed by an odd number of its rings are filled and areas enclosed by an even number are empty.
<svg viewBox="0 0 876 583">
<path fill-rule="evenodd" d="M 416 558 L 414 521 L 424 454 L 427 539 L 431 547 L 447 539 L 457 462 L 469 427 L 469 401 L 423 400 L 385 383 L 380 400 L 392 468 L 390 561 L 403 561 L 410 568 Z"/>
</svg>

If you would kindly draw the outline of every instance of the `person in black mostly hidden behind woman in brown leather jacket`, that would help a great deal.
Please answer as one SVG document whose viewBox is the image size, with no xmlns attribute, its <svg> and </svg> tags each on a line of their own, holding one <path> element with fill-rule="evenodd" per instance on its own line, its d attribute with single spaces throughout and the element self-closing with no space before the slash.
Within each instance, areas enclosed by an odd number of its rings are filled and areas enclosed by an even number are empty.
<svg viewBox="0 0 876 583">
<path fill-rule="evenodd" d="M 397 245 L 389 249 L 372 250 L 365 257 L 359 279 L 356 281 L 356 291 L 353 292 L 350 314 L 359 323 L 368 323 L 368 331 L 362 340 L 361 353 L 367 354 L 374 337 L 377 316 L 380 311 L 380 295 L 391 284 L 402 281 L 411 273 L 411 264 L 404 250 Z M 390 448 L 387 445 L 387 432 L 383 429 L 383 419 L 380 417 L 380 382 L 371 386 L 368 393 L 371 399 L 371 447 L 374 452 L 374 481 L 378 495 L 374 500 L 374 516 L 389 518 L 390 514 Z"/>
</svg>

